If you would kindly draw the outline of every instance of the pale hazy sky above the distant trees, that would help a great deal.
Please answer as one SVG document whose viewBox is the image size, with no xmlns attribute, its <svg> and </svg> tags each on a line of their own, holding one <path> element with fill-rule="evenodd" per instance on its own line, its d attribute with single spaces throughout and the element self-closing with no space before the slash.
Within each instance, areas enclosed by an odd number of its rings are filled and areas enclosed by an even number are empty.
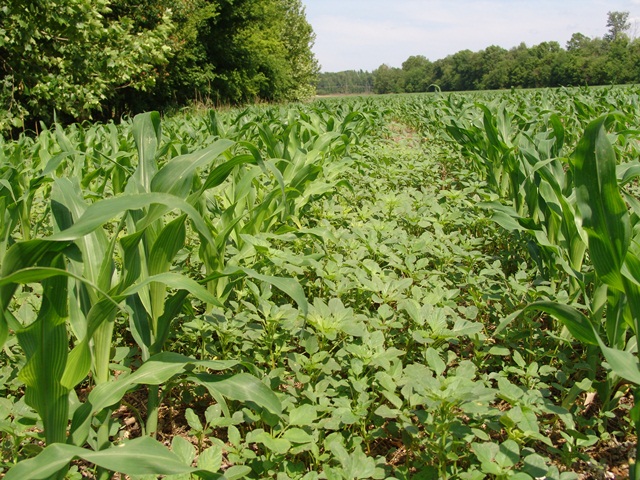
<svg viewBox="0 0 640 480">
<path fill-rule="evenodd" d="M 412 55 L 431 61 L 490 45 L 509 49 L 574 33 L 602 37 L 607 13 L 629 12 L 640 37 L 640 0 L 302 0 L 316 34 L 323 72 L 401 67 Z"/>
</svg>

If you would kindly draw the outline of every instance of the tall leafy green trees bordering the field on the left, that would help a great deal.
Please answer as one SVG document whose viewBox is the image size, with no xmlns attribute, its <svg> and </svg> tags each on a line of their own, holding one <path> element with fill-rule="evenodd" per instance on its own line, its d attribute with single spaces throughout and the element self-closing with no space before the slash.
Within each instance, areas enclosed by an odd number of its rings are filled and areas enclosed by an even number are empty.
<svg viewBox="0 0 640 480">
<path fill-rule="evenodd" d="M 315 92 L 300 0 L 7 0 L 0 133 L 38 121 Z"/>
</svg>

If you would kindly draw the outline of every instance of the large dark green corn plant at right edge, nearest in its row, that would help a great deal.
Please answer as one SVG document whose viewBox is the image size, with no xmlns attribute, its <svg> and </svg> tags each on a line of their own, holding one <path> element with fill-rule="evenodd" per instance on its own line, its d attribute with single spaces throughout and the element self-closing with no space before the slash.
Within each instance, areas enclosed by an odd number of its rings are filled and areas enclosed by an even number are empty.
<svg viewBox="0 0 640 480">
<path fill-rule="evenodd" d="M 599 347 L 611 371 L 632 385 L 635 406 L 631 419 L 640 434 L 640 209 L 635 197 L 626 193 L 623 197 L 616 176 L 616 155 L 606 129 L 615 119 L 605 115 L 590 123 L 571 158 L 578 211 L 596 273 L 590 289 L 592 308 L 584 313 L 557 302 L 536 302 L 527 309 L 553 315 L 576 339 Z M 634 175 L 637 171 L 626 180 Z M 604 324 L 602 312 L 606 312 Z M 638 445 L 636 458 L 640 458 Z M 631 478 L 640 479 L 637 461 L 631 467 Z"/>
</svg>

